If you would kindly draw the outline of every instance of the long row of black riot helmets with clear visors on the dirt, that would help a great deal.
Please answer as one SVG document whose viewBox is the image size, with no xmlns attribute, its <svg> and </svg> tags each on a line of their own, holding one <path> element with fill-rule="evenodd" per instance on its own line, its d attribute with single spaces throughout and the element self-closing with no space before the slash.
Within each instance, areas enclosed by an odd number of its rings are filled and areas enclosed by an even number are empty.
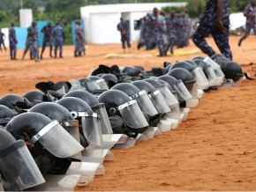
<svg viewBox="0 0 256 192">
<path fill-rule="evenodd" d="M 220 65 L 219 65 L 220 63 Z M 163 68 L 101 65 L 88 78 L 41 82 L 41 91 L 0 99 L 0 174 L 5 190 L 40 185 L 45 174 L 65 174 L 83 155 L 100 156 L 102 134 L 137 137 L 166 114 L 194 107 L 199 90 L 231 78 L 239 85 L 237 63 L 222 55 L 164 63 Z M 0 185 L 1 187 L 1 185 Z"/>
</svg>

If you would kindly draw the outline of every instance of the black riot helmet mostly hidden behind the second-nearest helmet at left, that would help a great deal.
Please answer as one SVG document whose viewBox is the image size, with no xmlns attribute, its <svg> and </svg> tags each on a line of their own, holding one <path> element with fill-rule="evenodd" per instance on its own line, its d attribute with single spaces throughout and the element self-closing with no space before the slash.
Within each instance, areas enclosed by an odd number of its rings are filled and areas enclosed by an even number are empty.
<svg viewBox="0 0 256 192">
<path fill-rule="evenodd" d="M 56 103 L 45 102 L 32 107 L 29 112 L 44 114 L 51 120 L 58 121 L 80 143 L 79 122 L 74 120 L 72 114 L 65 107 Z M 81 160 L 81 152 L 72 156 L 72 159 Z"/>
</svg>

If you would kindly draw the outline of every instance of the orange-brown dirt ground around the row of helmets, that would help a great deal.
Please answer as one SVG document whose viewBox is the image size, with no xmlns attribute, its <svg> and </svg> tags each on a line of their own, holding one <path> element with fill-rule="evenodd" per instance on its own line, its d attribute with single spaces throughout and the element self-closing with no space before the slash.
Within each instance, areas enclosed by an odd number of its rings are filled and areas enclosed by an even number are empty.
<svg viewBox="0 0 256 192">
<path fill-rule="evenodd" d="M 255 37 L 237 47 L 231 37 L 234 61 L 245 72 L 255 73 Z M 208 39 L 217 50 L 213 39 Z M 177 51 L 194 50 L 190 47 Z M 195 55 L 167 58 L 104 59 L 108 53 L 122 54 L 120 45 L 89 45 L 87 56 L 73 57 L 73 47 L 64 47 L 64 59 L 51 59 L 49 50 L 40 63 L 9 60 L 0 53 L 0 96 L 33 90 L 41 81 L 69 80 L 87 76 L 99 64 L 141 65 L 150 70 L 164 61 L 191 59 Z M 22 50 L 18 50 L 20 58 Z M 132 54 L 149 55 L 136 50 Z M 203 54 L 197 54 L 203 55 Z M 114 161 L 105 162 L 106 174 L 96 176 L 86 188 L 76 190 L 255 190 L 256 189 L 256 81 L 244 80 L 238 88 L 221 88 L 205 94 L 192 108 L 187 122 L 132 149 L 111 150 Z"/>
</svg>

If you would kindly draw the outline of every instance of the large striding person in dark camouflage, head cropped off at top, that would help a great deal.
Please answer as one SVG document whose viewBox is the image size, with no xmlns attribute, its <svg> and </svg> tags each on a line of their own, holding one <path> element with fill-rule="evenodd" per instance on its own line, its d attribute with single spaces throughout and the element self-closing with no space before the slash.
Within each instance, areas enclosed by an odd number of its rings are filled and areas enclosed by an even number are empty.
<svg viewBox="0 0 256 192">
<path fill-rule="evenodd" d="M 200 17 L 200 26 L 193 34 L 192 41 L 207 55 L 215 55 L 205 38 L 211 33 L 217 47 L 232 60 L 229 44 L 230 11 L 228 0 L 207 0 L 206 11 Z"/>
</svg>

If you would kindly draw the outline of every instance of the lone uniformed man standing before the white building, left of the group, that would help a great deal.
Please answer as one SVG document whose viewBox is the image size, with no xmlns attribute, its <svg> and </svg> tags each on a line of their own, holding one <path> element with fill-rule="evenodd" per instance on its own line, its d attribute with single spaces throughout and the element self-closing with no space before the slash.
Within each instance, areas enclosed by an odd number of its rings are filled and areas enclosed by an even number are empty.
<svg viewBox="0 0 256 192">
<path fill-rule="evenodd" d="M 129 26 L 128 24 L 124 21 L 123 18 L 120 18 L 120 23 L 117 25 L 117 30 L 121 33 L 121 41 L 125 53 L 125 42 L 127 43 L 127 47 L 131 48 L 131 43 L 130 43 L 130 33 L 129 33 Z"/>
</svg>

